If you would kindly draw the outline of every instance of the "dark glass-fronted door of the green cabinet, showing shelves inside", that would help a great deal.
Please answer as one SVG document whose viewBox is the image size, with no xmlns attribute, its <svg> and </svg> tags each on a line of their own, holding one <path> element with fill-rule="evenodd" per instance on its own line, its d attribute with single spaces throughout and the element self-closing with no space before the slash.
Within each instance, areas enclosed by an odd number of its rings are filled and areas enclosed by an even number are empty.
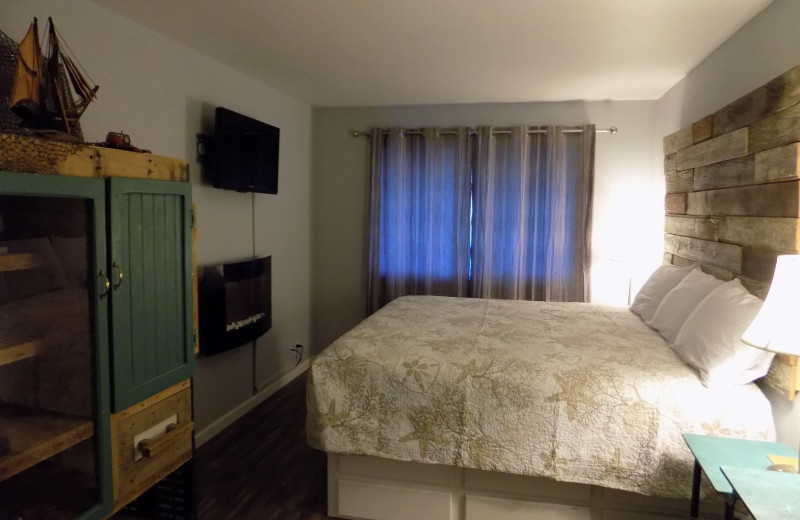
<svg viewBox="0 0 800 520">
<path fill-rule="evenodd" d="M 0 363 L 0 437 L 11 448 L 11 456 L 0 457 L 0 474 L 5 475 L 0 506 L 6 508 L 0 509 L 104 518 L 113 505 L 105 184 L 102 179 L 0 172 L 0 221 L 0 285 L 31 284 L 26 295 L 5 291 L 0 298 L 0 350 L 17 344 L 15 330 L 25 330 L 24 337 L 31 335 L 26 341 L 38 343 L 30 358 Z M 15 247 L 33 243 L 31 253 L 14 254 Z M 40 262 L 3 266 L 3 258 L 13 256 Z M 45 273 L 71 269 L 82 275 L 46 276 L 50 282 L 43 285 Z M 15 278 L 7 279 L 12 272 Z M 41 327 L 26 321 L 34 308 L 37 312 L 30 315 L 44 322 Z M 12 384 L 4 386 L 7 380 Z M 92 388 L 84 396 L 86 386 Z M 4 414 L 12 409 L 16 412 Z M 89 434 L 80 433 L 84 424 L 91 425 Z"/>
</svg>

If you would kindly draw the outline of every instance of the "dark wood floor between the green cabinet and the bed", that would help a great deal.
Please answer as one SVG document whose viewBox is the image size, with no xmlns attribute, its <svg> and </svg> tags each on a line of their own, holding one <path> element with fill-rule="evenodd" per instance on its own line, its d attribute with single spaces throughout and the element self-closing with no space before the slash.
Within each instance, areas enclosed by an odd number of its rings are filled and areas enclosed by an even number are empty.
<svg viewBox="0 0 800 520">
<path fill-rule="evenodd" d="M 324 520 L 325 454 L 305 438 L 306 374 L 196 453 L 198 520 Z"/>
</svg>

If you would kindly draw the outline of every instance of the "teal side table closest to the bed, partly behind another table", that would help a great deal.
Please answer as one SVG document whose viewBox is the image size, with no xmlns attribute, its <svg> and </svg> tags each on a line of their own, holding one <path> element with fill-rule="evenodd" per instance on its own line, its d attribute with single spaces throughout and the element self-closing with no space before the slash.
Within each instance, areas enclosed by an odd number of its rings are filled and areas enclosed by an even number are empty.
<svg viewBox="0 0 800 520">
<path fill-rule="evenodd" d="M 700 510 L 701 470 L 708 477 L 714 490 L 725 497 L 725 520 L 733 520 L 736 493 L 720 467 L 764 470 L 766 473 L 767 466 L 772 464 L 769 455 L 797 456 L 797 452 L 792 448 L 777 442 L 708 437 L 689 433 L 685 433 L 683 439 L 694 455 L 690 518 L 697 518 Z"/>
</svg>

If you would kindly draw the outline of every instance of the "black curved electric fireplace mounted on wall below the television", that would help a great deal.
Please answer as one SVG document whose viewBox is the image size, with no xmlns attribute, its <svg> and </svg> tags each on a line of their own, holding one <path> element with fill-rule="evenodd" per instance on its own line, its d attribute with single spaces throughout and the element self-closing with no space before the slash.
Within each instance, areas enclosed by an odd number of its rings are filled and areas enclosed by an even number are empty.
<svg viewBox="0 0 800 520">
<path fill-rule="evenodd" d="M 272 327 L 272 257 L 209 265 L 198 284 L 200 351 L 211 356 Z"/>
</svg>

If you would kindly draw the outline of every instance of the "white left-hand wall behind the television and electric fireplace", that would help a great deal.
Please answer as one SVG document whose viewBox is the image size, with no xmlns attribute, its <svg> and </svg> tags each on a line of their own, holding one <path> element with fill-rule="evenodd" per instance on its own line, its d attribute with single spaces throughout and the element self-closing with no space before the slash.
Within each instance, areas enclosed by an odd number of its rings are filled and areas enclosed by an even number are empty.
<svg viewBox="0 0 800 520">
<path fill-rule="evenodd" d="M 289 348 L 310 341 L 311 108 L 85 0 L 3 0 L 0 30 L 19 41 L 36 16 L 55 23 L 100 85 L 81 119 L 87 141 L 124 131 L 153 153 L 189 163 L 198 205 L 200 265 L 272 255 L 272 330 L 256 347 L 255 385 L 294 368 Z M 281 129 L 279 194 L 216 190 L 195 162 L 195 134 L 211 132 L 225 106 Z M 255 214 L 255 233 L 253 232 Z M 194 379 L 199 430 L 252 402 L 253 346 L 199 358 Z"/>
</svg>

